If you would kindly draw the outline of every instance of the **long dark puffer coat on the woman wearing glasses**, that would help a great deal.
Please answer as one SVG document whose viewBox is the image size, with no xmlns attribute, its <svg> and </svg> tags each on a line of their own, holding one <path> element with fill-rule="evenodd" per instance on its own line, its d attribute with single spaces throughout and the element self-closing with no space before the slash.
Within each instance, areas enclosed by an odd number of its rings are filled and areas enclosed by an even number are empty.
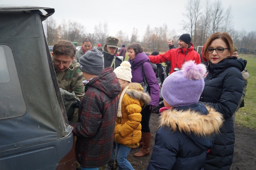
<svg viewBox="0 0 256 170">
<path fill-rule="evenodd" d="M 209 62 L 205 87 L 201 102 L 215 108 L 224 115 L 225 121 L 214 145 L 207 154 L 204 169 L 230 169 L 233 162 L 235 134 L 232 115 L 242 96 L 244 80 L 241 71 L 247 61 L 243 59 L 224 59 L 218 64 Z"/>
</svg>

